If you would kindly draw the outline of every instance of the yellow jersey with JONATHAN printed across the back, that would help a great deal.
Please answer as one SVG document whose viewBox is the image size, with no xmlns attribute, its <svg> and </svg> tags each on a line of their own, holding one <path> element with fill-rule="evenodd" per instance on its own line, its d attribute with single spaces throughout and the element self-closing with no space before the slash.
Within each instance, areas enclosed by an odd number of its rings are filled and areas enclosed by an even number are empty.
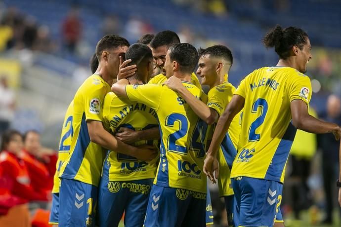
<svg viewBox="0 0 341 227">
<path fill-rule="evenodd" d="M 155 110 L 145 104 L 118 98 L 113 92 L 104 98 L 104 127 L 113 135 L 120 127 L 132 130 L 144 130 L 159 126 Z M 138 141 L 133 146 L 149 144 L 158 147 L 159 141 Z M 134 181 L 155 178 L 157 161 L 160 156 L 150 162 L 139 161 L 136 158 L 108 151 L 103 163 L 102 178 L 108 181 Z"/>
</svg>

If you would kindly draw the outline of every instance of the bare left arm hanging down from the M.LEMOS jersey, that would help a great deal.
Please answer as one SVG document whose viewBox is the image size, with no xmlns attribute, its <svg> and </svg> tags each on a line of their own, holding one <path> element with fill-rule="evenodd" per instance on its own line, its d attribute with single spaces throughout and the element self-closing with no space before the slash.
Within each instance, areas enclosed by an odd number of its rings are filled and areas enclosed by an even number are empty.
<svg viewBox="0 0 341 227">
<path fill-rule="evenodd" d="M 215 179 L 218 178 L 219 165 L 216 154 L 219 146 L 226 135 L 230 124 L 236 114 L 244 108 L 245 98 L 240 95 L 233 95 L 230 103 L 227 105 L 224 113 L 219 117 L 218 123 L 213 133 L 212 142 L 204 163 L 204 173 L 215 183 L 213 172 L 215 171 Z"/>
</svg>

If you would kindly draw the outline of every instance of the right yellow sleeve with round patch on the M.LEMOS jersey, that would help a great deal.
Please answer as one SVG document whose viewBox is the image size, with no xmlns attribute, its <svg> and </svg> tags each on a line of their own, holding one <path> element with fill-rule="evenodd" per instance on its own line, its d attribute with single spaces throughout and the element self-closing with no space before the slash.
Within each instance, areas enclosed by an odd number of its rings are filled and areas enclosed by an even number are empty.
<svg viewBox="0 0 341 227">
<path fill-rule="evenodd" d="M 295 99 L 300 99 L 309 107 L 309 102 L 311 99 L 310 78 L 308 76 L 304 76 L 303 74 L 301 76 L 295 76 L 290 81 L 290 84 L 288 86 L 288 93 L 290 97 L 290 102 Z"/>
</svg>

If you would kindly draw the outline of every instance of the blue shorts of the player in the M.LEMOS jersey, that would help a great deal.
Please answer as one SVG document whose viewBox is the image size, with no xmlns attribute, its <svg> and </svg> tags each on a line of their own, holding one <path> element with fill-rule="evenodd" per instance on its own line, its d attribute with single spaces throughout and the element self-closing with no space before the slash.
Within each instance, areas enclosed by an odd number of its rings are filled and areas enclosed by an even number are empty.
<svg viewBox="0 0 341 227">
<path fill-rule="evenodd" d="M 234 225 L 272 227 L 282 200 L 283 185 L 250 177 L 233 178 Z"/>
</svg>

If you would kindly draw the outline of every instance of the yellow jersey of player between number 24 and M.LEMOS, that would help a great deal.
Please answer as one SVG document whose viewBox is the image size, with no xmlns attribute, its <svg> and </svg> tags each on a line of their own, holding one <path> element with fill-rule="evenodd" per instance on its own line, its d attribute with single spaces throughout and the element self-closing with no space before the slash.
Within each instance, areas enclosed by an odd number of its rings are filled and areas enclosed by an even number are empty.
<svg viewBox="0 0 341 227">
<path fill-rule="evenodd" d="M 227 81 L 213 87 L 208 93 L 209 101 L 207 106 L 215 110 L 220 116 L 224 113 L 226 106 L 231 101 L 235 90 L 236 88 Z M 219 196 L 234 194 L 230 174 L 233 160 L 237 154 L 237 146 L 241 130 L 241 113 L 242 112 L 238 113 L 233 118 L 228 132 L 226 133 L 217 153 L 217 159 L 219 161 Z"/>
</svg>

